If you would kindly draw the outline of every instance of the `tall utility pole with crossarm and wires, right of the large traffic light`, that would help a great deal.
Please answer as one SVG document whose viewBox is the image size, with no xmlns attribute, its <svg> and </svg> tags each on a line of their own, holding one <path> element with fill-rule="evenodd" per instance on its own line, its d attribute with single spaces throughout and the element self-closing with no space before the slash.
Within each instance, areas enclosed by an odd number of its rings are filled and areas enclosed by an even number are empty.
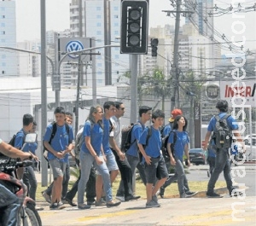
<svg viewBox="0 0 256 226">
<path fill-rule="evenodd" d="M 178 98 L 178 33 L 179 33 L 179 23 L 180 23 L 180 5 L 181 0 L 177 0 L 177 12 L 175 20 L 175 35 L 174 35 L 174 47 L 173 47 L 173 67 L 172 67 L 172 96 L 171 96 L 171 111 L 175 107 L 179 107 Z M 177 94 L 177 106 L 176 104 L 176 94 Z"/>
</svg>

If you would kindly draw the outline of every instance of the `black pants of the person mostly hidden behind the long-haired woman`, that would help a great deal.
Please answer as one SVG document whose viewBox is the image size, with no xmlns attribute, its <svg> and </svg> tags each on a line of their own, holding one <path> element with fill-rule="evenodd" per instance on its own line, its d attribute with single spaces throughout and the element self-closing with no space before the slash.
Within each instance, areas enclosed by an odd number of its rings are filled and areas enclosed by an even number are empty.
<svg viewBox="0 0 256 226">
<path fill-rule="evenodd" d="M 79 165 L 79 161 L 77 162 L 77 164 Z M 66 198 L 68 200 L 73 200 L 74 196 L 77 194 L 78 188 L 79 188 L 80 177 L 81 177 L 81 171 L 79 170 L 78 180 L 73 184 L 73 187 L 71 188 L 71 190 L 67 192 Z M 90 202 L 95 201 L 95 197 L 96 197 L 96 169 L 95 169 L 95 167 L 90 168 L 90 177 L 89 177 L 88 182 L 86 183 L 85 191 L 86 191 L 87 201 L 90 201 Z"/>
</svg>

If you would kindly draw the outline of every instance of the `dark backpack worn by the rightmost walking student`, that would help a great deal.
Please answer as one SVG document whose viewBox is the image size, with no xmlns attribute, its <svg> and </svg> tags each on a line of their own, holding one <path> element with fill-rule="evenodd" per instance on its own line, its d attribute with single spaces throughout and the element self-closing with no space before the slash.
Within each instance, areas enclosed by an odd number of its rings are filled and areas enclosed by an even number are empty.
<svg viewBox="0 0 256 226">
<path fill-rule="evenodd" d="M 230 130 L 230 127 L 227 123 L 227 119 L 229 117 L 230 114 L 224 115 L 222 119 L 220 119 L 218 115 L 215 116 L 216 124 L 212 134 L 212 140 L 215 143 L 215 145 L 212 145 L 212 148 L 215 150 L 221 148 L 230 148 L 231 146 L 232 130 Z"/>
</svg>

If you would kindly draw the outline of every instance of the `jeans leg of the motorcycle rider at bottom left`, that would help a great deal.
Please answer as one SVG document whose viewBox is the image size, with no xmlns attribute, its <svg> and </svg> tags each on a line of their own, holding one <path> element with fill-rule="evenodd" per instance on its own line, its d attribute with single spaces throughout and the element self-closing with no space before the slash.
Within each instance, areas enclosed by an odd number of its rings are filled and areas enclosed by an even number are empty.
<svg viewBox="0 0 256 226">
<path fill-rule="evenodd" d="M 16 226 L 18 224 L 19 210 L 19 198 L 0 184 L 0 222 L 2 225 Z"/>
</svg>

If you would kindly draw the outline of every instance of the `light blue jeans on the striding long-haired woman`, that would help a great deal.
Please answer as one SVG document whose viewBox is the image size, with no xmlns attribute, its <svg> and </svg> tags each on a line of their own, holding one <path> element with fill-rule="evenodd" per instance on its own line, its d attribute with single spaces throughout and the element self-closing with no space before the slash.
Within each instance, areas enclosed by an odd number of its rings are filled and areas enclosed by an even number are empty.
<svg viewBox="0 0 256 226">
<path fill-rule="evenodd" d="M 102 156 L 100 156 L 100 158 L 103 159 Z M 79 181 L 78 188 L 78 205 L 84 204 L 84 189 L 86 183 L 89 180 L 91 165 L 94 165 L 96 167 L 96 170 L 99 171 L 99 173 L 102 175 L 103 188 L 106 194 L 106 201 L 112 201 L 113 198 L 110 175 L 106 163 L 103 161 L 102 165 L 97 165 L 95 157 L 92 156 L 91 154 L 86 154 L 84 152 L 80 152 L 79 159 L 81 168 L 81 178 Z"/>
</svg>

